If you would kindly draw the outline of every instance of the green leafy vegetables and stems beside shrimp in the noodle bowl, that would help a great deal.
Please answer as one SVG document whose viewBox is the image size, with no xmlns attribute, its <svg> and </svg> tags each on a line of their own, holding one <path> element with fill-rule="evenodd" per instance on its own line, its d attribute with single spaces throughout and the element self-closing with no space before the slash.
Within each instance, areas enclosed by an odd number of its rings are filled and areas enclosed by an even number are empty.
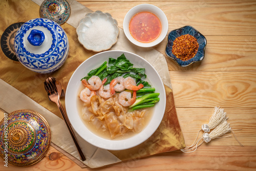
<svg viewBox="0 0 256 171">
<path fill-rule="evenodd" d="M 132 77 L 136 80 L 137 86 L 143 84 L 142 89 L 136 92 L 136 101 L 129 107 L 132 110 L 149 108 L 155 105 L 160 99 L 158 98 L 159 93 L 155 93 L 155 88 L 152 88 L 150 83 L 144 81 L 146 78 L 144 68 L 133 68 L 133 63 L 131 63 L 124 54 L 119 56 L 117 59 L 109 58 L 109 62 L 104 61 L 100 67 L 91 70 L 88 76 L 82 79 L 90 79 L 93 75 L 98 76 L 101 80 L 106 78 L 104 85 L 109 84 L 113 79 L 122 76 L 123 78 Z M 81 80 L 82 80 L 81 79 Z M 126 90 L 131 91 L 132 90 Z"/>
</svg>

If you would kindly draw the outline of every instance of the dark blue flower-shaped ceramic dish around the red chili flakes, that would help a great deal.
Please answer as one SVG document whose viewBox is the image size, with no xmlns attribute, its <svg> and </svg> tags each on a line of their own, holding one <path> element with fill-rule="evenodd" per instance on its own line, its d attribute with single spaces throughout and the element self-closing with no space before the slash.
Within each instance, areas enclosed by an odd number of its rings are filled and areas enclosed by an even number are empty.
<svg viewBox="0 0 256 171">
<path fill-rule="evenodd" d="M 181 35 L 185 35 L 185 34 L 190 34 L 191 36 L 194 36 L 197 39 L 199 48 L 198 48 L 197 54 L 193 58 L 183 61 L 183 60 L 177 58 L 173 54 L 172 49 L 173 49 L 174 40 L 177 37 L 179 37 Z M 199 61 L 203 60 L 204 53 L 205 53 L 205 47 L 206 47 L 206 38 L 204 37 L 204 35 L 202 35 L 199 31 L 197 31 L 195 28 L 193 28 L 191 26 L 185 26 L 180 29 L 176 29 L 176 30 L 169 32 L 165 53 L 168 57 L 174 59 L 178 63 L 179 66 L 187 67 L 191 63 L 199 62 Z"/>
</svg>

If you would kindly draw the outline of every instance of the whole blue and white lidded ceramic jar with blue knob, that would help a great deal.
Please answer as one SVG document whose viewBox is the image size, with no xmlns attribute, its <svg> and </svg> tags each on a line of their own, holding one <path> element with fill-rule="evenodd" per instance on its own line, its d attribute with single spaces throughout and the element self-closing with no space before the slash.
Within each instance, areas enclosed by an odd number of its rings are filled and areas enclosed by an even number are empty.
<svg viewBox="0 0 256 171">
<path fill-rule="evenodd" d="M 14 49 L 26 68 L 37 73 L 51 73 L 66 61 L 69 41 L 65 31 L 53 20 L 35 18 L 19 28 Z"/>
</svg>

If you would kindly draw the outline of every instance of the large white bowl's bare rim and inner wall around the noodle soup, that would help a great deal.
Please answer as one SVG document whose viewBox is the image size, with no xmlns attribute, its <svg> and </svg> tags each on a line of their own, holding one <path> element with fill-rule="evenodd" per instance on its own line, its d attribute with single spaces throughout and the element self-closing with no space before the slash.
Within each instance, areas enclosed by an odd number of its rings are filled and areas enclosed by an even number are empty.
<svg viewBox="0 0 256 171">
<path fill-rule="evenodd" d="M 150 80 L 152 87 L 156 88 L 156 92 L 160 93 L 160 101 L 155 105 L 155 110 L 150 122 L 148 122 L 148 124 L 140 133 L 123 140 L 109 140 L 95 135 L 86 127 L 86 125 L 84 125 L 79 115 L 80 111 L 78 111 L 77 108 L 77 94 L 81 85 L 81 78 L 86 76 L 87 73 L 92 69 L 99 67 L 103 61 L 109 61 L 109 57 L 117 58 L 123 53 L 127 59 L 136 65 L 136 67 L 145 68 L 147 79 Z M 144 142 L 156 131 L 164 115 L 166 104 L 165 98 L 164 86 L 159 74 L 145 59 L 130 52 L 106 51 L 88 58 L 86 61 L 82 62 L 81 65 L 75 70 L 68 83 L 65 104 L 67 115 L 72 126 L 74 127 L 74 130 L 84 140 L 103 149 L 121 150 L 134 147 Z"/>
</svg>

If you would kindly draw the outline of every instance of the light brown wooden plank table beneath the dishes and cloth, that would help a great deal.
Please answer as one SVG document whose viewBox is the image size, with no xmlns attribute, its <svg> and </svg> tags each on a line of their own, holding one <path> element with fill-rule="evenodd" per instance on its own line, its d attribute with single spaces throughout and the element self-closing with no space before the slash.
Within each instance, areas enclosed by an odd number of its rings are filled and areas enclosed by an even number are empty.
<svg viewBox="0 0 256 171">
<path fill-rule="evenodd" d="M 205 59 L 186 68 L 166 55 L 177 115 L 190 145 L 215 106 L 225 110 L 237 139 L 203 143 L 194 153 L 181 151 L 125 161 L 99 169 L 80 168 L 50 147 L 29 167 L 6 170 L 255 170 L 256 169 L 256 1 L 79 1 L 93 11 L 109 12 L 123 27 L 125 14 L 139 4 L 152 4 L 166 14 L 169 31 L 190 25 L 207 39 Z M 155 47 L 165 54 L 166 39 Z M 3 164 L 1 164 L 3 165 Z"/>
</svg>

